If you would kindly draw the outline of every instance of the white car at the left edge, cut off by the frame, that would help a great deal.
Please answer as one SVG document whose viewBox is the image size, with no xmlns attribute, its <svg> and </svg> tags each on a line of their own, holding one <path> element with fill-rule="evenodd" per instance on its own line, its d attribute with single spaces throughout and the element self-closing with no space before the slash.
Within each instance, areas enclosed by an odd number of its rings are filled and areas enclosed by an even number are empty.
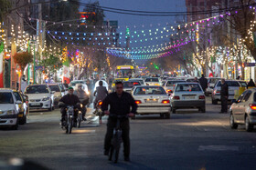
<svg viewBox="0 0 256 170">
<path fill-rule="evenodd" d="M 8 126 L 17 130 L 18 113 L 21 101 L 16 100 L 12 89 L 0 88 L 0 126 Z"/>
</svg>

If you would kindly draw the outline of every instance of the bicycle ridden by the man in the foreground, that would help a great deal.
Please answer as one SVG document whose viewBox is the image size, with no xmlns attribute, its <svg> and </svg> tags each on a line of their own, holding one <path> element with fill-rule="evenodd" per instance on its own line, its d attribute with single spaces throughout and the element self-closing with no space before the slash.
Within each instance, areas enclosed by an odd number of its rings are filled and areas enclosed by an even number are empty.
<svg viewBox="0 0 256 170">
<path fill-rule="evenodd" d="M 116 121 L 115 128 L 113 129 L 112 145 L 110 148 L 109 160 L 112 161 L 112 155 L 114 155 L 114 163 L 117 163 L 118 156 L 119 156 L 119 150 L 120 150 L 121 144 L 123 143 L 123 139 L 122 139 L 123 132 L 122 132 L 122 128 L 121 128 L 121 120 L 123 118 L 128 118 L 128 116 L 127 115 L 116 115 L 114 117 L 117 118 L 117 121 Z"/>
</svg>

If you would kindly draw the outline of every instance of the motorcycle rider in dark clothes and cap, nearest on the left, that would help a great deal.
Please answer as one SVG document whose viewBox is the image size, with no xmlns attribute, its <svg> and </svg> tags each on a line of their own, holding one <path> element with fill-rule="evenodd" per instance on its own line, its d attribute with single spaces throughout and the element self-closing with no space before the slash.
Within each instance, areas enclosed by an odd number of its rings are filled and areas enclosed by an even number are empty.
<svg viewBox="0 0 256 170">
<path fill-rule="evenodd" d="M 65 104 L 65 105 L 74 105 L 74 106 L 80 103 L 79 97 L 77 95 L 74 95 L 73 87 L 69 87 L 69 94 L 63 95 L 60 98 L 59 105 L 61 105 L 61 103 Z M 67 114 L 66 107 L 62 106 L 60 108 L 60 113 L 61 113 L 61 125 L 63 126 L 64 125 L 63 122 L 65 121 L 65 115 Z M 77 116 L 78 116 L 78 112 L 75 111 L 75 113 L 74 113 L 75 124 L 74 125 L 76 125 Z"/>
</svg>

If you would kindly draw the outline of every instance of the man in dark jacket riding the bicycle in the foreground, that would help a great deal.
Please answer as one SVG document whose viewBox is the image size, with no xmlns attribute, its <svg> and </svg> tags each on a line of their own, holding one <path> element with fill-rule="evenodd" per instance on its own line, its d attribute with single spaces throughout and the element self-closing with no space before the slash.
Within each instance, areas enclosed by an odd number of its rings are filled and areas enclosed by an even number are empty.
<svg viewBox="0 0 256 170">
<path fill-rule="evenodd" d="M 110 111 L 108 111 L 108 105 L 110 105 Z M 132 110 L 131 110 L 132 106 Z M 133 117 L 136 114 L 137 105 L 133 99 L 133 96 L 129 93 L 123 92 L 123 83 L 117 82 L 115 84 L 115 92 L 108 95 L 101 105 L 101 109 L 105 115 L 110 115 L 107 124 L 107 133 L 105 136 L 104 155 L 109 154 L 109 150 L 112 144 L 113 129 L 116 125 L 116 117 L 114 115 L 128 115 Z M 113 116 L 112 116 L 113 115 Z M 121 121 L 122 138 L 123 138 L 123 154 L 124 161 L 130 161 L 130 125 L 129 118 L 125 117 Z"/>
</svg>

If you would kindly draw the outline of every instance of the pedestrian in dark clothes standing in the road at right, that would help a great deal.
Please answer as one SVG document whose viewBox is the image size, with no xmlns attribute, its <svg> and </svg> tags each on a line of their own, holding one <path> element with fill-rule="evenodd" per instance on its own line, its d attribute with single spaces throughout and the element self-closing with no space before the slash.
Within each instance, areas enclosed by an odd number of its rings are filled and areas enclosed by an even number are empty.
<svg viewBox="0 0 256 170">
<path fill-rule="evenodd" d="M 228 113 L 228 99 L 229 99 L 229 85 L 225 82 L 225 79 L 221 79 L 220 85 L 220 101 L 221 111 L 220 113 Z"/>
</svg>

